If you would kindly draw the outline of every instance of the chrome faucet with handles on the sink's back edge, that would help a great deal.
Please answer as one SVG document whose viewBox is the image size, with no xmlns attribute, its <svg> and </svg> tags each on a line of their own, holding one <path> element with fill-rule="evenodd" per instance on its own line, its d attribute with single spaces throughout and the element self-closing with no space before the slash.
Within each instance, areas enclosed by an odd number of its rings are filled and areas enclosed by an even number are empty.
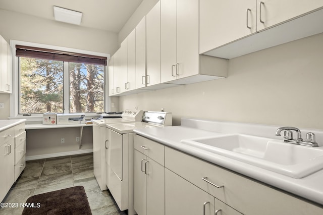
<svg viewBox="0 0 323 215">
<path fill-rule="evenodd" d="M 281 132 L 284 131 L 284 142 L 305 145 L 305 146 L 312 146 L 317 147 L 318 144 L 315 142 L 315 134 L 312 132 L 308 132 L 306 134 L 306 141 L 303 141 L 302 133 L 298 128 L 285 126 L 280 127 L 276 131 L 276 136 L 281 136 Z M 297 137 L 293 139 L 293 131 L 296 131 Z"/>
</svg>

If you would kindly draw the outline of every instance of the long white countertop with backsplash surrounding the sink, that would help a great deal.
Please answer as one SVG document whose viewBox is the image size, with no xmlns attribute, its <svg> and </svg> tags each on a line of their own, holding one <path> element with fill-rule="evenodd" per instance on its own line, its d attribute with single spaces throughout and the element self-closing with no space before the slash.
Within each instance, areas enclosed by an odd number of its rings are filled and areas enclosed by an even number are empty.
<svg viewBox="0 0 323 215">
<path fill-rule="evenodd" d="M 250 132 L 250 130 L 248 130 L 248 127 L 249 129 L 254 128 L 255 125 L 253 124 L 224 123 L 223 126 L 221 126 L 222 122 L 216 122 L 213 124 L 210 121 L 206 121 L 206 124 L 208 125 L 204 126 L 205 124 L 203 124 L 202 121 L 193 121 L 193 124 L 191 124 L 188 119 L 184 119 L 182 120 L 182 126 L 143 128 L 135 129 L 134 132 L 166 146 L 178 149 L 195 157 L 199 157 L 207 162 L 219 165 L 323 205 L 323 170 L 301 179 L 295 179 L 181 143 L 181 140 L 183 139 L 217 136 L 223 133 L 228 133 L 227 129 L 230 126 L 231 129 L 229 130 L 232 130 L 232 133 L 241 133 L 242 130 L 245 130 L 244 133 L 246 134 L 256 135 L 254 132 Z M 272 131 L 273 128 L 276 128 L 272 126 L 263 127 L 264 129 L 262 130 L 264 131 L 262 132 L 266 132 L 266 130 Z M 201 128 L 203 128 L 203 130 Z M 241 128 L 242 130 L 237 132 Z M 257 134 L 259 136 L 259 132 Z M 267 136 L 273 135 L 269 134 Z M 319 132 L 318 137 L 318 139 L 321 140 L 321 131 Z"/>
</svg>

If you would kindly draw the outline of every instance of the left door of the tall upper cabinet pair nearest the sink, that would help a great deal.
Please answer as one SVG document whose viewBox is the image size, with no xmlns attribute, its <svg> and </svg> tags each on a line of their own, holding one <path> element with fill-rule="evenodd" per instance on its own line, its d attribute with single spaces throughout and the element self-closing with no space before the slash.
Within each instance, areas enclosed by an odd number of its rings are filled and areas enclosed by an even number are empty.
<svg viewBox="0 0 323 215">
<path fill-rule="evenodd" d="M 176 79 L 176 0 L 161 0 L 161 82 Z"/>
</svg>

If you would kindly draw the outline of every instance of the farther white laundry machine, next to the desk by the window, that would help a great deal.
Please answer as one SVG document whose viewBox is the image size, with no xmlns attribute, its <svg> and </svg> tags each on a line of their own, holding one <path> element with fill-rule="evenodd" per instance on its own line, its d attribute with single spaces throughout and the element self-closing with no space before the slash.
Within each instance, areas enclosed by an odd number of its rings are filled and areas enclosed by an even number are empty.
<svg viewBox="0 0 323 215">
<path fill-rule="evenodd" d="M 106 190 L 105 183 L 105 125 L 111 123 L 120 122 L 136 122 L 142 120 L 143 111 L 138 110 L 126 110 L 121 118 L 116 118 L 116 115 L 112 115 L 112 118 L 103 118 L 92 120 L 93 122 L 93 173 L 96 181 L 100 187 L 100 190 Z M 107 115 L 104 115 L 107 117 Z"/>
</svg>

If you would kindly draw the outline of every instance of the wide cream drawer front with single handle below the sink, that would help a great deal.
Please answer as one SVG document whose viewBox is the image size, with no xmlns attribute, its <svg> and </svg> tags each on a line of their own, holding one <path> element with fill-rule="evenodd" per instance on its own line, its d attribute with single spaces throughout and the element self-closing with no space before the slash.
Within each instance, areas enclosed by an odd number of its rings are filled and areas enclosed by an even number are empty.
<svg viewBox="0 0 323 215">
<path fill-rule="evenodd" d="M 323 214 L 321 207 L 169 147 L 165 167 L 244 214 Z"/>
</svg>

